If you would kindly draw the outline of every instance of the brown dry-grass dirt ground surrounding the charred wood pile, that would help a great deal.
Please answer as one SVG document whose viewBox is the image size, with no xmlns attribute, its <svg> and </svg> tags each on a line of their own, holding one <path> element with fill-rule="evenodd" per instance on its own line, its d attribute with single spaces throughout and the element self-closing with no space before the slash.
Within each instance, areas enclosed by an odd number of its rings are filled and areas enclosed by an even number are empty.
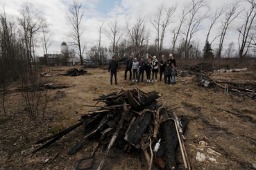
<svg viewBox="0 0 256 170">
<path fill-rule="evenodd" d="M 80 120 L 79 113 L 92 111 L 83 104 L 94 105 L 92 101 L 103 93 L 119 91 L 119 88 L 140 88 L 146 93 L 157 91 L 162 94 L 160 101 L 167 106 L 180 106 L 173 110 L 178 117 L 189 116 L 185 132 L 189 161 L 192 169 L 253 169 L 256 164 L 256 100 L 229 93 L 223 89 L 202 88 L 194 82 L 194 75 L 177 78 L 176 85 L 164 82 L 135 84 L 123 80 L 124 71 L 117 73 L 118 85 L 110 85 L 110 74 L 102 68 L 85 68 L 91 75 L 78 77 L 62 76 L 60 73 L 72 67 L 48 67 L 51 77 L 43 77 L 45 83 L 72 86 L 49 90 L 49 104 L 44 120 L 32 121 L 26 115 L 24 98 L 20 92 L 6 96 L 7 116 L 0 108 L 0 169 L 76 169 L 78 160 L 88 158 L 96 148 L 92 169 L 97 169 L 108 141 L 84 139 L 83 126 L 68 133 L 49 147 L 32 153 L 40 147 L 37 140 L 67 129 Z M 55 70 L 55 71 L 53 71 Z M 159 75 L 158 75 L 159 76 Z M 210 77 L 219 82 L 251 82 L 256 84 L 253 71 L 239 73 L 217 73 Z M 75 86 L 73 86 L 75 85 Z M 19 88 L 13 84 L 11 90 Z M 253 87 L 255 91 L 255 86 Z M 110 139 L 110 138 L 109 138 Z M 108 139 L 108 140 L 109 140 Z M 74 155 L 67 152 L 76 142 L 83 147 Z M 99 146 L 96 145 L 99 143 Z M 148 152 L 149 153 L 149 152 Z M 201 155 L 204 160 L 196 159 Z M 103 169 L 148 169 L 142 152 L 125 153 L 114 147 Z M 180 150 L 177 151 L 178 168 L 183 169 Z M 82 167 L 88 167 L 88 161 Z M 159 169 L 153 165 L 152 169 Z"/>
</svg>

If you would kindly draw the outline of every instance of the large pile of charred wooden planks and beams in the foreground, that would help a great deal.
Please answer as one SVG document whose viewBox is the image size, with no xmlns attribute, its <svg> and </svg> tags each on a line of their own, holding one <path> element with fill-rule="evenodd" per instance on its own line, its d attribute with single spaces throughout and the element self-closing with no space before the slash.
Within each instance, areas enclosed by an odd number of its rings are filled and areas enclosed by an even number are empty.
<svg viewBox="0 0 256 170">
<path fill-rule="evenodd" d="M 83 124 L 84 139 L 104 140 L 103 143 L 108 144 L 105 153 L 102 154 L 103 158 L 101 158 L 98 169 L 102 169 L 114 144 L 127 152 L 132 149 L 142 151 L 148 162 L 148 169 L 151 169 L 153 163 L 162 168 L 176 169 L 175 155 L 180 144 L 184 166 L 190 169 L 183 140 L 183 131 L 187 127 L 187 116 L 182 116 L 182 120 L 179 122 L 175 113 L 169 115 L 169 111 L 174 108 L 164 106 L 167 102 L 164 104 L 157 102 L 159 97 L 161 97 L 160 93 L 155 91 L 144 93 L 139 88 L 121 89 L 109 95 L 102 95 L 94 101 L 97 102 L 96 104 L 103 102 L 104 106 L 84 105 L 97 109 L 80 113 L 82 122 L 54 135 L 53 138 L 40 140 L 39 142 L 46 142 L 52 139 L 36 151 Z M 80 146 L 80 144 L 77 145 Z M 76 149 L 69 150 L 69 153 L 74 153 L 77 150 L 78 147 L 74 147 Z"/>
</svg>

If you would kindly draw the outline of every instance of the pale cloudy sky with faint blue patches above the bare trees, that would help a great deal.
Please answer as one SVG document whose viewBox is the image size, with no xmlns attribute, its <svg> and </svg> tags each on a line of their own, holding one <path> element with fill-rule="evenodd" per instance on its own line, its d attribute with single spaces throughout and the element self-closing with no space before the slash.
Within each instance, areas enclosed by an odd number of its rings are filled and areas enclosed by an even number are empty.
<svg viewBox="0 0 256 170">
<path fill-rule="evenodd" d="M 187 0 L 190 1 L 190 0 Z M 229 3 L 234 0 L 209 0 L 210 9 L 215 10 L 217 7 L 223 6 L 224 3 Z M 69 26 L 66 19 L 66 12 L 68 11 L 69 4 L 71 0 L 0 0 L 0 3 L 6 10 L 8 17 L 15 19 L 19 16 L 19 9 L 22 6 L 22 3 L 29 2 L 33 3 L 34 8 L 41 12 L 42 16 L 46 18 L 46 21 L 50 24 L 49 29 L 52 32 L 52 45 L 49 48 L 49 53 L 60 53 L 60 44 L 62 41 L 66 41 L 67 44 L 70 39 L 67 37 L 69 32 Z M 130 21 L 133 21 L 141 16 L 151 15 L 157 6 L 160 6 L 164 2 L 165 6 L 174 6 L 176 3 L 182 4 L 185 0 L 81 0 L 83 3 L 83 8 L 85 9 L 85 17 L 83 18 L 83 28 L 85 32 L 83 34 L 83 44 L 86 44 L 87 48 L 96 44 L 99 40 L 99 26 L 105 21 L 103 28 L 108 27 L 108 23 L 113 21 L 115 17 L 120 19 L 120 24 L 125 23 L 125 17 L 129 17 Z M 173 16 L 173 26 L 176 24 L 175 21 L 178 21 L 178 16 L 180 15 L 180 10 L 177 10 L 175 16 Z M 200 30 L 192 38 L 194 41 L 199 41 L 202 48 L 203 42 L 205 41 L 205 34 L 207 30 L 207 25 L 210 20 L 205 19 L 202 24 L 202 30 Z M 151 32 L 151 41 L 155 38 L 154 32 L 152 30 L 151 23 L 148 22 L 148 30 Z M 167 35 L 165 37 L 164 46 L 171 47 L 171 26 L 167 30 Z M 124 25 L 123 25 L 124 26 Z M 215 26 L 212 30 L 212 38 L 218 34 L 219 28 Z M 234 32 L 230 30 L 224 41 L 224 48 L 228 46 L 231 41 L 234 41 L 235 46 L 237 46 L 237 37 L 234 36 Z M 102 35 L 102 43 L 105 46 L 108 46 L 109 39 L 105 35 Z M 217 40 L 213 44 L 212 48 L 216 48 Z M 37 49 L 37 55 L 41 55 L 42 48 Z"/>
</svg>

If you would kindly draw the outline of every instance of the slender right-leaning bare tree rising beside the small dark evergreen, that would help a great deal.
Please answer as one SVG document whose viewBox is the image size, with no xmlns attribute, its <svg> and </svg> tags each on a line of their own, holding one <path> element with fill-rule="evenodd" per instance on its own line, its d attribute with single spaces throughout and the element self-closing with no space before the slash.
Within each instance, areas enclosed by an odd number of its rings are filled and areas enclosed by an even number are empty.
<svg viewBox="0 0 256 170">
<path fill-rule="evenodd" d="M 203 48 L 203 56 L 204 56 L 204 58 L 207 58 L 207 57 L 205 57 L 205 55 L 206 55 L 206 52 L 207 52 L 207 50 L 206 50 L 206 48 L 207 48 L 207 46 L 208 46 L 208 44 L 209 44 L 209 36 L 210 36 L 210 32 L 211 32 L 211 30 L 212 30 L 212 27 L 214 26 L 214 24 L 216 23 L 216 21 L 217 21 L 217 19 L 219 19 L 219 17 L 221 17 L 221 15 L 223 15 L 223 13 L 224 13 L 224 11 L 225 11 L 225 8 L 217 8 L 216 10 L 215 10 L 215 12 L 214 12 L 214 15 L 210 15 L 211 16 L 211 22 L 210 22 L 210 26 L 209 26 L 209 28 L 208 28 L 208 31 L 207 31 L 207 35 L 206 35 L 206 39 L 205 39 L 205 46 L 204 46 L 204 48 Z M 214 39 L 210 42 L 210 45 L 212 45 L 212 42 L 217 38 L 218 36 L 215 36 L 214 37 Z"/>
</svg>

